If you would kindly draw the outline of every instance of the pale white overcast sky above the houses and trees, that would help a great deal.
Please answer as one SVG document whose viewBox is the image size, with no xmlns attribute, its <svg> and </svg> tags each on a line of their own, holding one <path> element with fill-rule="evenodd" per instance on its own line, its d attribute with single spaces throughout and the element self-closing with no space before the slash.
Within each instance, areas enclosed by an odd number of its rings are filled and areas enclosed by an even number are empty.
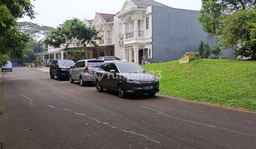
<svg viewBox="0 0 256 149">
<path fill-rule="evenodd" d="M 125 0 L 31 0 L 36 18 L 24 17 L 18 22 L 28 21 L 39 25 L 56 27 L 73 17 L 94 19 L 95 12 L 116 14 Z M 189 10 L 200 10 L 201 0 L 156 0 L 162 4 Z"/>
</svg>

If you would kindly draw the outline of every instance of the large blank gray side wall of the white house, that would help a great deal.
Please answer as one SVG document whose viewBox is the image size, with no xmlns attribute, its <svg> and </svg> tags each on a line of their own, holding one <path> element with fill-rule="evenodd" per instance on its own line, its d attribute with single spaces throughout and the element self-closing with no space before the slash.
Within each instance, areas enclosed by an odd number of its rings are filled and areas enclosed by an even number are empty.
<svg viewBox="0 0 256 149">
<path fill-rule="evenodd" d="M 152 6 L 153 59 L 180 59 L 186 52 L 195 51 L 201 40 L 214 47 L 217 38 L 203 32 L 198 16 L 199 11 Z"/>
</svg>

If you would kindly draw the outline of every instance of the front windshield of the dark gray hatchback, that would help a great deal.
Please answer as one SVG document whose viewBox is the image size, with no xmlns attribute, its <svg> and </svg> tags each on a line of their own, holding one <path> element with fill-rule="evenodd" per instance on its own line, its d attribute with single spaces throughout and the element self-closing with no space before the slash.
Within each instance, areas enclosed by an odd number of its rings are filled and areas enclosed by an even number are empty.
<svg viewBox="0 0 256 149">
<path fill-rule="evenodd" d="M 136 63 L 120 63 L 117 64 L 121 73 L 142 73 L 146 72 L 140 65 Z"/>
</svg>

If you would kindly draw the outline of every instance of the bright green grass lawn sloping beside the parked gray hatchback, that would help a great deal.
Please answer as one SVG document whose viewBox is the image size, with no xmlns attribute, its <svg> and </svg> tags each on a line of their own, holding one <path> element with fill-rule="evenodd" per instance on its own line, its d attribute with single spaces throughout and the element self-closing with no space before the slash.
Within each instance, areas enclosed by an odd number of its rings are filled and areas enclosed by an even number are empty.
<svg viewBox="0 0 256 149">
<path fill-rule="evenodd" d="M 143 67 L 162 71 L 160 94 L 256 110 L 256 61 L 205 59 Z"/>
</svg>

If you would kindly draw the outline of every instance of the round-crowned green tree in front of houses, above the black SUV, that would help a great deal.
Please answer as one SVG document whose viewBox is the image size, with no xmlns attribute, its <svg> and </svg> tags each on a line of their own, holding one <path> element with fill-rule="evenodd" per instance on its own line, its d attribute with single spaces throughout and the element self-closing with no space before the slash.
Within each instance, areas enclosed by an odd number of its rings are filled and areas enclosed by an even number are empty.
<svg viewBox="0 0 256 149">
<path fill-rule="evenodd" d="M 96 40 L 101 39 L 98 33 L 94 26 L 87 27 L 79 19 L 73 18 L 60 24 L 57 29 L 51 30 L 44 41 L 54 48 L 68 50 L 68 54 L 80 53 L 82 55 L 87 44 L 91 43 L 97 46 Z"/>
</svg>

